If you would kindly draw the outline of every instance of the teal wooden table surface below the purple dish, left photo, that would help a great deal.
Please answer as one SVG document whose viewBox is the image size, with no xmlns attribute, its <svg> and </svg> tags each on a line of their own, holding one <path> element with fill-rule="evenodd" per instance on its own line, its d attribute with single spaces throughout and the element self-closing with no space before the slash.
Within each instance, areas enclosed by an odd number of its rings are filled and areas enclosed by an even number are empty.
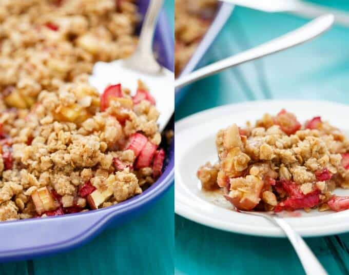
<svg viewBox="0 0 349 275">
<path fill-rule="evenodd" d="M 173 26 L 173 0 L 165 0 L 165 7 Z M 0 275 L 172 274 L 173 207 L 172 187 L 145 213 L 103 231 L 88 244 L 41 259 L 0 264 Z"/>
</svg>

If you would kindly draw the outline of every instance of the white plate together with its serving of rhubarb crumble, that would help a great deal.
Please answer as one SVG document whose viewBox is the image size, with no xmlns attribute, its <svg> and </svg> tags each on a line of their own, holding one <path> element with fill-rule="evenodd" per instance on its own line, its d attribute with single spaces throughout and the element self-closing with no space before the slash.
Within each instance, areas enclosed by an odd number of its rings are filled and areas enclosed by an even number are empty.
<svg viewBox="0 0 349 275">
<path fill-rule="evenodd" d="M 176 213 L 210 227 L 269 237 L 284 233 L 262 217 L 233 210 L 273 211 L 304 237 L 348 231 L 349 126 L 341 115 L 347 108 L 255 101 L 178 121 Z"/>
</svg>

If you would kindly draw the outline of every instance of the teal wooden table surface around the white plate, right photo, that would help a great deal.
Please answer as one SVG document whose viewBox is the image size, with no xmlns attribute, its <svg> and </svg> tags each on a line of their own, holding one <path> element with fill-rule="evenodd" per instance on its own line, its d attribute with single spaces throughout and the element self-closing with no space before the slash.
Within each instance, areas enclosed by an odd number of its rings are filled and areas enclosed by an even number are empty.
<svg viewBox="0 0 349 275">
<path fill-rule="evenodd" d="M 347 1 L 331 3 L 349 10 Z M 236 8 L 202 64 L 266 42 L 305 22 L 291 15 Z M 176 108 L 176 119 L 219 105 L 260 99 L 318 99 L 349 104 L 348 37 L 349 29 L 334 27 L 312 42 L 199 81 Z M 176 274 L 304 273 L 286 239 L 224 232 L 179 215 L 175 226 Z M 349 233 L 307 238 L 306 242 L 329 274 L 349 273 Z"/>
</svg>

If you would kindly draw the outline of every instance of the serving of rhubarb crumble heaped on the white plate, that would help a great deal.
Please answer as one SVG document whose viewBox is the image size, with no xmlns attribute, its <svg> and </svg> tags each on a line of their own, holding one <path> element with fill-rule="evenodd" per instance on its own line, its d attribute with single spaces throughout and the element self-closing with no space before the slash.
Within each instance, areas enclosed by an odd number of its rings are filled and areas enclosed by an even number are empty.
<svg viewBox="0 0 349 275">
<path fill-rule="evenodd" d="M 241 210 L 349 209 L 349 140 L 316 116 L 301 124 L 285 110 L 265 114 L 253 127 L 232 124 L 217 133 L 219 162 L 198 169 L 202 188 L 222 188 Z"/>
</svg>

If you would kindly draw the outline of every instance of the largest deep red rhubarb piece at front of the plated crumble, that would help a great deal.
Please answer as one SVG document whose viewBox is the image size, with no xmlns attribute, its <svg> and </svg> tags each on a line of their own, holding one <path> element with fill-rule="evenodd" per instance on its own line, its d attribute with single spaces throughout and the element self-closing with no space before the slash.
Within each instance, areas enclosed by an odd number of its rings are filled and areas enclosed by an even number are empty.
<svg viewBox="0 0 349 275">
<path fill-rule="evenodd" d="M 315 190 L 311 193 L 303 195 L 302 198 L 290 197 L 279 203 L 275 208 L 275 212 L 282 210 L 293 211 L 302 208 L 311 208 L 319 204 L 320 202 L 320 190 Z"/>
</svg>

